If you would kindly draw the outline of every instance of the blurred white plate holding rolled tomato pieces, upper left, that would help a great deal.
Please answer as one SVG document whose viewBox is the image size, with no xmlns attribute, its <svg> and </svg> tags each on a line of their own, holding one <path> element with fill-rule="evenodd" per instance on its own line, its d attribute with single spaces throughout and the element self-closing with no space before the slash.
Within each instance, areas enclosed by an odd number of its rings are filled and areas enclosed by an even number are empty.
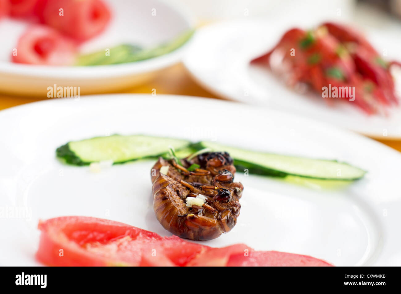
<svg viewBox="0 0 401 294">
<path fill-rule="evenodd" d="M 161 0 L 105 0 L 112 19 L 99 36 L 85 42 L 80 50 L 93 52 L 122 43 L 156 46 L 193 27 L 188 13 Z M 155 10 L 153 10 L 155 9 Z M 156 12 L 156 15 L 152 15 Z M 153 13 L 154 14 L 154 13 Z M 81 87 L 81 94 L 104 93 L 146 81 L 154 71 L 180 61 L 185 45 L 160 57 L 92 67 L 49 67 L 10 62 L 12 49 L 28 23 L 5 19 L 0 21 L 0 91 L 23 94 L 47 94 L 47 87 Z"/>
</svg>

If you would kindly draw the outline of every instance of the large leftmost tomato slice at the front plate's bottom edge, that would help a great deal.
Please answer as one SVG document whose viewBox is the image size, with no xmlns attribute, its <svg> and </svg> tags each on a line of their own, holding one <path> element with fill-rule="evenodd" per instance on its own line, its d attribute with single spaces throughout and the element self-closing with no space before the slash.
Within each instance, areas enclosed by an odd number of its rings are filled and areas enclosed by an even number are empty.
<svg viewBox="0 0 401 294">
<path fill-rule="evenodd" d="M 207 248 L 94 217 L 41 221 L 36 257 L 50 266 L 183 266 Z"/>
</svg>

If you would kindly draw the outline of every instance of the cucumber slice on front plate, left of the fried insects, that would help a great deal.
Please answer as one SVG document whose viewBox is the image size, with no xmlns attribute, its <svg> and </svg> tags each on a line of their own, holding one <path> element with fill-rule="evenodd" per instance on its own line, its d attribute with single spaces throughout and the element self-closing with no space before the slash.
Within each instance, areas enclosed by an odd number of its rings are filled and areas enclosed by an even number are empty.
<svg viewBox="0 0 401 294">
<path fill-rule="evenodd" d="M 188 147 L 189 144 L 189 141 L 179 139 L 144 135 L 113 135 L 68 142 L 57 148 L 56 154 L 57 157 L 74 165 L 87 165 L 103 160 L 124 163 L 164 154 L 170 146 L 175 150 L 180 150 Z"/>
</svg>

